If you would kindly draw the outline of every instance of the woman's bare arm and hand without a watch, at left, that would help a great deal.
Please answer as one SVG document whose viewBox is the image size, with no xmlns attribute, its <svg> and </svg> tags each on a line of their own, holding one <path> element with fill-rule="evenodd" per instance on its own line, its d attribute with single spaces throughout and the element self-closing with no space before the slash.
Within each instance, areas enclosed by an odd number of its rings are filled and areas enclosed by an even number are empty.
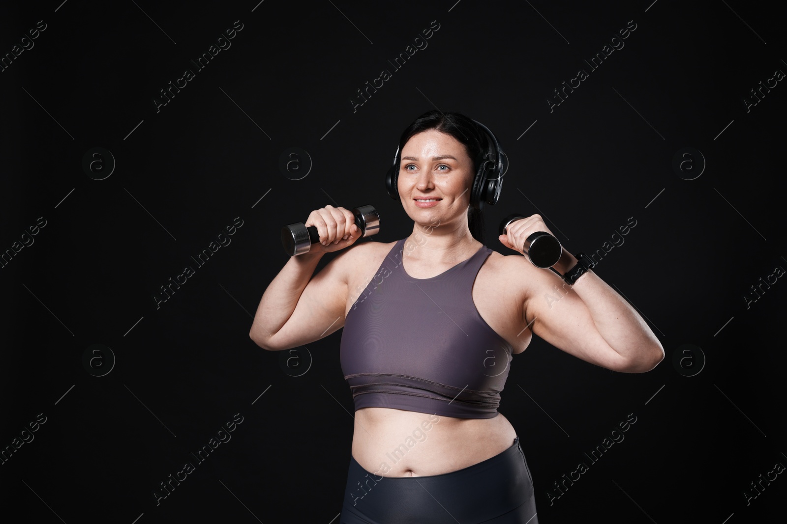
<svg viewBox="0 0 787 524">
<path fill-rule="evenodd" d="M 349 251 L 331 260 L 315 277 L 312 274 L 325 253 L 349 247 L 361 232 L 352 211 L 343 207 L 312 211 L 304 225 L 316 226 L 321 244 L 312 244 L 309 253 L 290 257 L 262 295 L 249 337 L 266 350 L 302 346 L 344 325 Z"/>
</svg>

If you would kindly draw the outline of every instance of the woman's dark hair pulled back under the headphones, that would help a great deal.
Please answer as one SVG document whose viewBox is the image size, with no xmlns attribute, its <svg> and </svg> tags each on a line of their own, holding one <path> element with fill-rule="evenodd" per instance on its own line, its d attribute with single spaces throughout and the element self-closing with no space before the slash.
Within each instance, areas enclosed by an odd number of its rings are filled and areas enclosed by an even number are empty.
<svg viewBox="0 0 787 524">
<path fill-rule="evenodd" d="M 405 144 L 413 135 L 432 129 L 449 134 L 456 141 L 464 144 L 464 148 L 467 149 L 467 156 L 473 162 L 471 172 L 475 179 L 475 174 L 478 173 L 478 166 L 484 161 L 484 156 L 490 149 L 490 143 L 486 133 L 472 119 L 461 113 L 442 113 L 437 110 L 423 113 L 423 115 L 420 115 L 407 126 L 401 134 L 399 154 L 401 155 L 402 148 L 405 147 Z M 467 210 L 467 225 L 473 238 L 484 244 L 484 218 L 478 207 L 471 205 Z"/>
</svg>

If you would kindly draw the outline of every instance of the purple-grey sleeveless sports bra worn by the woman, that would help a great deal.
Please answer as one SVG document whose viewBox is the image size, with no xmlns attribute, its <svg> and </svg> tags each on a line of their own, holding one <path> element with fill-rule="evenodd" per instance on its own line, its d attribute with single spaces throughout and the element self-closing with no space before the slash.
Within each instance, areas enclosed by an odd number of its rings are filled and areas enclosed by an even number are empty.
<svg viewBox="0 0 787 524">
<path fill-rule="evenodd" d="M 512 346 L 486 324 L 472 299 L 492 250 L 437 277 L 401 263 L 399 240 L 345 318 L 339 359 L 355 409 L 395 408 L 464 419 L 497 416 Z"/>
</svg>

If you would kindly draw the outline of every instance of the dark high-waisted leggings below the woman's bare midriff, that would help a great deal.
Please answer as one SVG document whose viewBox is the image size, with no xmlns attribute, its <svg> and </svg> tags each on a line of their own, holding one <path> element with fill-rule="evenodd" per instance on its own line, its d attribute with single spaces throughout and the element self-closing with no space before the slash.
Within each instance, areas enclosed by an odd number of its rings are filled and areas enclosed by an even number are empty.
<svg viewBox="0 0 787 524">
<path fill-rule="evenodd" d="M 383 477 L 350 456 L 340 524 L 538 524 L 519 437 L 502 453 L 442 475 Z"/>
</svg>

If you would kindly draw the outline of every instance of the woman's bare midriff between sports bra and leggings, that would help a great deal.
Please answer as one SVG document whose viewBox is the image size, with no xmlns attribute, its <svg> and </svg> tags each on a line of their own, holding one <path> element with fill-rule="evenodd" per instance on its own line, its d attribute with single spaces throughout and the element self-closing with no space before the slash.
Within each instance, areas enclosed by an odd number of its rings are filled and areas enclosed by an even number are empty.
<svg viewBox="0 0 787 524">
<path fill-rule="evenodd" d="M 458 419 L 390 408 L 355 412 L 353 458 L 377 477 L 442 475 L 510 448 L 514 427 L 500 412 L 491 419 Z"/>
</svg>

